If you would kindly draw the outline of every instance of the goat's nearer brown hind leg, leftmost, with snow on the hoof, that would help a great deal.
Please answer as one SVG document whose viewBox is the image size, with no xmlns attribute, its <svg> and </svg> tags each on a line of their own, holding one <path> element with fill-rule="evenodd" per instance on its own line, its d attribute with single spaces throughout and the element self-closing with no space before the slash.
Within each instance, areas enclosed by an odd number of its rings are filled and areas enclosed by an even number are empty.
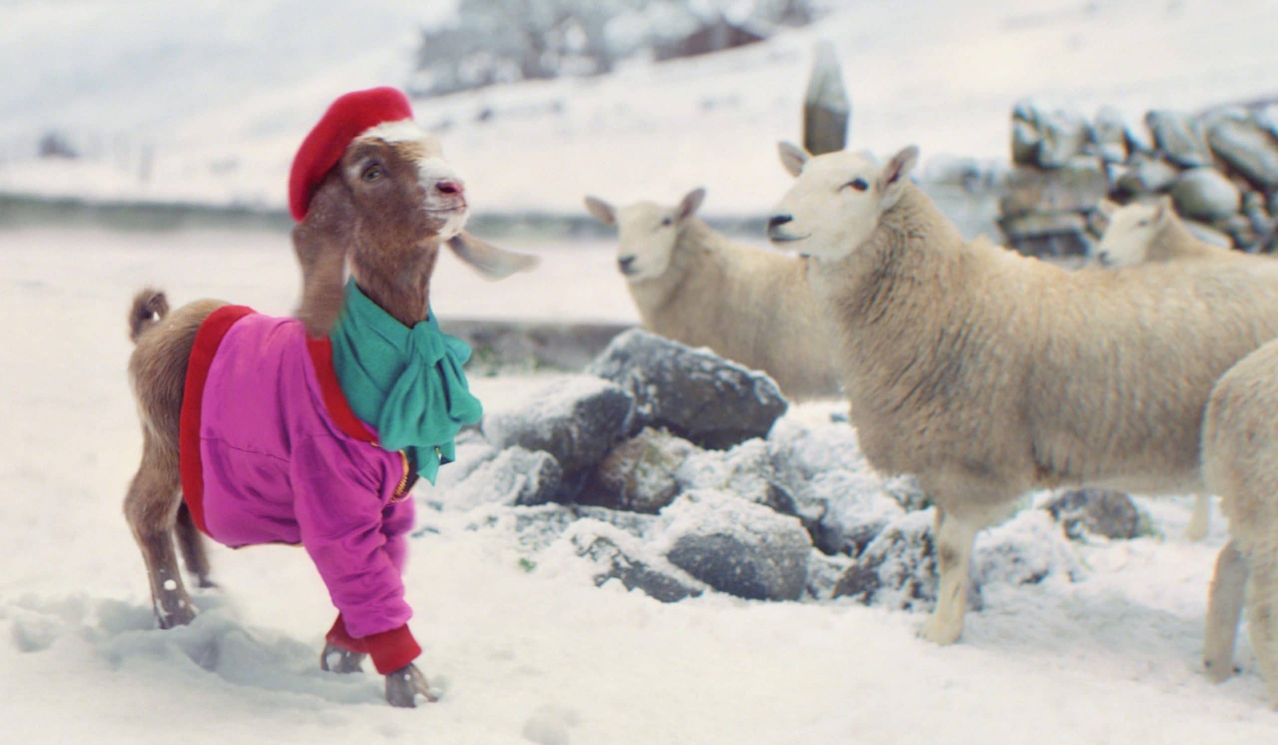
<svg viewBox="0 0 1278 745">
<path fill-rule="evenodd" d="M 147 565 L 151 599 L 161 629 L 181 626 L 196 617 L 173 546 L 179 486 L 178 451 L 156 442 L 150 432 L 144 433 L 142 465 L 124 497 L 124 516 Z"/>
</svg>

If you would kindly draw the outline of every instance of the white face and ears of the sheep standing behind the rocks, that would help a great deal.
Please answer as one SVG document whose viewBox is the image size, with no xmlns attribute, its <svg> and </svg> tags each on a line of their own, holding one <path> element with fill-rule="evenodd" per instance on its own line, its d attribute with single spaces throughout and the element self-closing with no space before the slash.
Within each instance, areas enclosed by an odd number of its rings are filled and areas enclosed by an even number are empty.
<svg viewBox="0 0 1278 745">
<path fill-rule="evenodd" d="M 585 206 L 599 221 L 617 226 L 617 270 L 629 282 L 644 282 L 670 268 L 680 229 L 704 197 L 704 189 L 695 189 L 675 207 L 653 202 L 613 207 L 587 197 Z"/>
</svg>

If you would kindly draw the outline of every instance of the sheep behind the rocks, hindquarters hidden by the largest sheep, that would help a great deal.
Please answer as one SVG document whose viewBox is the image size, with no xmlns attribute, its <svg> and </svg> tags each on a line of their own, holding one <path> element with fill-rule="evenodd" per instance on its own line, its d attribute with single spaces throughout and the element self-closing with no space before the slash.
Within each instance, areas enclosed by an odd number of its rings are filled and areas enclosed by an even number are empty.
<svg viewBox="0 0 1278 745">
<path fill-rule="evenodd" d="M 617 267 L 643 323 L 690 346 L 767 372 L 795 399 L 838 394 L 838 368 L 824 339 L 824 314 L 806 280 L 806 259 L 728 240 L 695 216 L 695 189 L 675 207 L 613 207 L 585 198 L 594 217 L 616 225 Z"/>
</svg>

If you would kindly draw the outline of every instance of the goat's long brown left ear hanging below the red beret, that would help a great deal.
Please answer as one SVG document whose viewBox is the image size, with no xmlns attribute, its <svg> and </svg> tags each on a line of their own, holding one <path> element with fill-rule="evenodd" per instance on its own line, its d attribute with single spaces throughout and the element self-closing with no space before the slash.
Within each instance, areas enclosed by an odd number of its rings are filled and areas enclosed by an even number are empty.
<svg viewBox="0 0 1278 745">
<path fill-rule="evenodd" d="M 293 252 L 302 268 L 302 300 L 294 316 L 313 337 L 328 334 L 341 311 L 354 226 L 355 203 L 335 169 L 320 183 L 307 216 L 293 229 Z"/>
</svg>

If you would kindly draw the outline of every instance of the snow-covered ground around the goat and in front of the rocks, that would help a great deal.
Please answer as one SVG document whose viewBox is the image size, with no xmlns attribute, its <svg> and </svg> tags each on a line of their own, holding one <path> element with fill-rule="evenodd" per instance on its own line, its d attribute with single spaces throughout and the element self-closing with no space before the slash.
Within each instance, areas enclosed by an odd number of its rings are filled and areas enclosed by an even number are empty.
<svg viewBox="0 0 1278 745">
<path fill-rule="evenodd" d="M 466 285 L 450 261 L 436 305 L 445 318 L 633 317 L 606 252 L 544 253 L 548 272 L 571 262 L 580 294 L 544 280 Z M 1167 538 L 1081 547 L 1075 584 L 988 588 L 964 641 L 944 649 L 915 639 L 921 615 L 850 601 L 666 606 L 596 589 L 567 558 L 527 571 L 514 535 L 466 530 L 451 512 L 432 516 L 440 533 L 414 542 L 406 576 L 422 663 L 446 691 L 438 704 L 395 710 L 378 679 L 317 670 L 332 611 L 298 549 L 215 548 L 225 589 L 198 597 L 193 626 L 157 631 L 120 515 L 139 452 L 124 381 L 129 289 L 155 279 L 176 302 L 213 294 L 284 312 L 286 243 L 0 231 L 0 740 L 1091 745 L 1278 733 L 1246 641 L 1241 676 L 1213 686 L 1200 675 L 1223 520 L 1205 544 L 1186 543 L 1183 500 L 1149 502 Z M 475 387 L 496 401 L 537 382 Z"/>
</svg>

